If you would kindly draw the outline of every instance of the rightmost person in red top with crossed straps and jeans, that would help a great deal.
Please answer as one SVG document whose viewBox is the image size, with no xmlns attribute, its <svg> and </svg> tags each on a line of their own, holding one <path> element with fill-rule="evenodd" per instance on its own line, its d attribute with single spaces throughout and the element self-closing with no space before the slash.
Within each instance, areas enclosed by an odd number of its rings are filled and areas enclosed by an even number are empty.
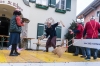
<svg viewBox="0 0 100 66">
<path fill-rule="evenodd" d="M 86 39 L 98 39 L 98 32 L 100 32 L 100 25 L 99 22 L 95 21 L 95 17 L 91 17 L 90 21 L 86 23 L 83 37 L 86 36 Z M 86 48 L 87 57 L 86 60 L 91 59 L 91 51 L 90 48 Z M 98 50 L 94 49 L 94 60 L 97 59 Z"/>
</svg>

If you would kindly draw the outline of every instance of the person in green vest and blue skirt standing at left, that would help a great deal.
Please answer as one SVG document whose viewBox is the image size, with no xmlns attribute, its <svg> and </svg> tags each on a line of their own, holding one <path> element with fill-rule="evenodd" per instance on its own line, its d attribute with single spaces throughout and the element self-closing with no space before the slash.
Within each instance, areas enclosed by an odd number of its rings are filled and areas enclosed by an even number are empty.
<svg viewBox="0 0 100 66">
<path fill-rule="evenodd" d="M 21 21 L 21 12 L 16 9 L 13 12 L 13 16 L 10 20 L 10 39 L 9 44 L 12 45 L 11 52 L 9 56 L 18 56 L 20 53 L 17 52 L 17 44 L 20 42 L 21 26 L 24 26 Z"/>
</svg>

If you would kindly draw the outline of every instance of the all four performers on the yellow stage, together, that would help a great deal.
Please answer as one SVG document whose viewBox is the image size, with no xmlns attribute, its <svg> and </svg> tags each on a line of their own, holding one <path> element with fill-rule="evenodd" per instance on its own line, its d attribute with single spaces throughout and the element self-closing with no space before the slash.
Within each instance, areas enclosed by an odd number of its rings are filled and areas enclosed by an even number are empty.
<svg viewBox="0 0 100 66">
<path fill-rule="evenodd" d="M 55 24 L 51 24 L 51 22 L 47 22 L 46 27 L 46 35 L 45 37 L 48 38 L 46 42 L 46 52 L 48 52 L 49 47 L 56 48 L 56 30 L 55 28 L 60 24 L 61 22 L 57 22 Z M 81 24 L 80 21 L 77 21 L 77 29 L 69 31 L 71 33 L 75 33 L 76 37 L 75 39 L 98 39 L 98 33 L 100 32 L 100 25 L 99 22 L 95 21 L 94 17 L 91 17 L 90 21 L 85 24 L 85 27 Z M 62 24 L 62 23 L 61 23 Z M 10 39 L 9 44 L 12 45 L 11 52 L 9 56 L 18 56 L 20 53 L 17 52 L 17 44 L 20 43 L 20 34 L 22 30 L 22 26 L 24 26 L 24 21 L 21 20 L 21 12 L 16 9 L 13 12 L 13 16 L 10 20 Z M 78 47 L 76 46 L 76 51 L 74 53 L 74 56 L 78 56 L 79 54 L 79 48 L 82 49 L 82 58 L 85 58 L 86 60 L 91 59 L 91 51 L 90 48 L 85 47 Z M 97 53 L 98 50 L 94 49 L 93 59 L 97 59 Z"/>
</svg>

